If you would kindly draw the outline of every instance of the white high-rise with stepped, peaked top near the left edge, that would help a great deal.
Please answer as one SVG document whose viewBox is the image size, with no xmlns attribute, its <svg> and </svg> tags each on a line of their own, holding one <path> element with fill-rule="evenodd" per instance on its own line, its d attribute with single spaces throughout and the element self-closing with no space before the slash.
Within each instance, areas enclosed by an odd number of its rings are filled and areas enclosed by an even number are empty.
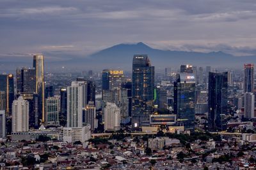
<svg viewBox="0 0 256 170">
<path fill-rule="evenodd" d="M 29 103 L 21 96 L 12 103 L 12 132 L 28 132 Z"/>
</svg>

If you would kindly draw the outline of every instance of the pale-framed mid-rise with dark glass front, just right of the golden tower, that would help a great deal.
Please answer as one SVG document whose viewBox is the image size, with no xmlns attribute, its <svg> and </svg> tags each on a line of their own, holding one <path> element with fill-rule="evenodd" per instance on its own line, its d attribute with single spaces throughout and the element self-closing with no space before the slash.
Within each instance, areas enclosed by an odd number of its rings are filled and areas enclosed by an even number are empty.
<svg viewBox="0 0 256 170">
<path fill-rule="evenodd" d="M 59 112 L 60 112 L 60 96 L 47 97 L 46 104 L 46 124 L 47 125 L 60 125 Z"/>
</svg>

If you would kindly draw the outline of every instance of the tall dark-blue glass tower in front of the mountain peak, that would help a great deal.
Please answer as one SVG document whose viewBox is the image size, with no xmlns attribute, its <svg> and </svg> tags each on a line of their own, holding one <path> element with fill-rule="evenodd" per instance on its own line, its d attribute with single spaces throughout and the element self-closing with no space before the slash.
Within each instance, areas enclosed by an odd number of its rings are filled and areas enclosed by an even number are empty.
<svg viewBox="0 0 256 170">
<path fill-rule="evenodd" d="M 149 124 L 154 111 L 154 75 L 147 55 L 134 55 L 132 60 L 132 127 Z"/>
</svg>

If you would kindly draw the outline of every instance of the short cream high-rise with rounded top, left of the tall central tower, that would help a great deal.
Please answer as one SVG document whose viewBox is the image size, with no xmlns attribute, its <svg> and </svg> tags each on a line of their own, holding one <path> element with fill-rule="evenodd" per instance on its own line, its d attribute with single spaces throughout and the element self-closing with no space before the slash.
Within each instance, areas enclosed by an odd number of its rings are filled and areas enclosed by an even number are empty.
<svg viewBox="0 0 256 170">
<path fill-rule="evenodd" d="M 118 108 L 115 103 L 106 103 L 106 106 L 104 108 L 104 121 L 105 131 L 120 130 L 120 108 Z"/>
</svg>

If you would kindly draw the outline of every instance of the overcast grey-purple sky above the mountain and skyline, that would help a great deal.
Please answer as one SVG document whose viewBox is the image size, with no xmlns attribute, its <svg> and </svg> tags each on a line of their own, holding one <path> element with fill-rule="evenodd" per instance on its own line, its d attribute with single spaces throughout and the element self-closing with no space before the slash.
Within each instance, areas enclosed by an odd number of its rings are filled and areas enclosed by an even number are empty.
<svg viewBox="0 0 256 170">
<path fill-rule="evenodd" d="M 31 53 L 84 57 L 140 41 L 168 50 L 255 55 L 256 1 L 0 0 L 0 39 L 0 61 Z"/>
</svg>

